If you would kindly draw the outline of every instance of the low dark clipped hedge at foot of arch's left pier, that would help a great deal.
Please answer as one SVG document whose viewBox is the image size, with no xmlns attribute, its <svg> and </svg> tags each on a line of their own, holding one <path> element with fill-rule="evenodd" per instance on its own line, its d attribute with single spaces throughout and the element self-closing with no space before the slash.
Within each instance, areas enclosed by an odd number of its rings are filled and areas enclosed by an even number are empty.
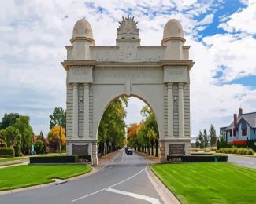
<svg viewBox="0 0 256 204">
<path fill-rule="evenodd" d="M 71 156 L 46 156 L 30 157 L 31 164 L 49 164 L 49 163 L 87 163 L 91 162 L 91 155 L 71 155 Z"/>
</svg>

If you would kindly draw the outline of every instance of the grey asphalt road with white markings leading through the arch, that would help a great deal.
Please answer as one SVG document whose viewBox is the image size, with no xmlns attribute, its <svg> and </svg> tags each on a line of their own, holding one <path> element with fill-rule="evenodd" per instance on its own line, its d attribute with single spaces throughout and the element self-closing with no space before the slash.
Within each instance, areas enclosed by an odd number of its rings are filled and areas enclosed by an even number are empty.
<svg viewBox="0 0 256 204">
<path fill-rule="evenodd" d="M 1 204 L 50 203 L 163 203 L 148 179 L 147 163 L 139 155 L 125 155 L 120 151 L 98 172 L 65 184 L 0 195 Z"/>
</svg>

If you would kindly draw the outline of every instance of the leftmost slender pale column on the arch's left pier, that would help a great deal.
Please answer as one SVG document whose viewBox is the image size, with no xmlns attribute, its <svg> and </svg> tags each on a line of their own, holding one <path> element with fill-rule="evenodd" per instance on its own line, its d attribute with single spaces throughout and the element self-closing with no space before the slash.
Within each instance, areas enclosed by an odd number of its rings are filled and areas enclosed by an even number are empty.
<svg viewBox="0 0 256 204">
<path fill-rule="evenodd" d="M 72 112 L 72 137 L 78 137 L 78 84 L 72 84 L 73 88 L 73 112 Z"/>
</svg>

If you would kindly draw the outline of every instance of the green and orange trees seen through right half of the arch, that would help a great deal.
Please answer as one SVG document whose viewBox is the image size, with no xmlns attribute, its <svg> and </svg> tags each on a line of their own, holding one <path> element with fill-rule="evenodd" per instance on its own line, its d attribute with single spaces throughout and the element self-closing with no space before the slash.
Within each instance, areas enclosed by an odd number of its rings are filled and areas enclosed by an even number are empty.
<svg viewBox="0 0 256 204">
<path fill-rule="evenodd" d="M 158 156 L 159 133 L 154 113 L 147 106 L 144 106 L 140 113 L 143 115 L 143 121 L 128 126 L 128 146 L 135 151 Z"/>
</svg>

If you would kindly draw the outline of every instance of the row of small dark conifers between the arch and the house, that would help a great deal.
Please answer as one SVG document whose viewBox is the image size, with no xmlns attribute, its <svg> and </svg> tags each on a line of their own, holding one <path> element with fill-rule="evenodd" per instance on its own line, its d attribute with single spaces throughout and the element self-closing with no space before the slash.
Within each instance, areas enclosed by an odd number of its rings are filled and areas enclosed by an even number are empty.
<svg viewBox="0 0 256 204">
<path fill-rule="evenodd" d="M 200 130 L 198 137 L 196 137 L 196 148 L 215 147 L 217 145 L 217 135 L 214 126 L 210 126 L 209 134 L 206 129 L 203 132 Z"/>
</svg>

